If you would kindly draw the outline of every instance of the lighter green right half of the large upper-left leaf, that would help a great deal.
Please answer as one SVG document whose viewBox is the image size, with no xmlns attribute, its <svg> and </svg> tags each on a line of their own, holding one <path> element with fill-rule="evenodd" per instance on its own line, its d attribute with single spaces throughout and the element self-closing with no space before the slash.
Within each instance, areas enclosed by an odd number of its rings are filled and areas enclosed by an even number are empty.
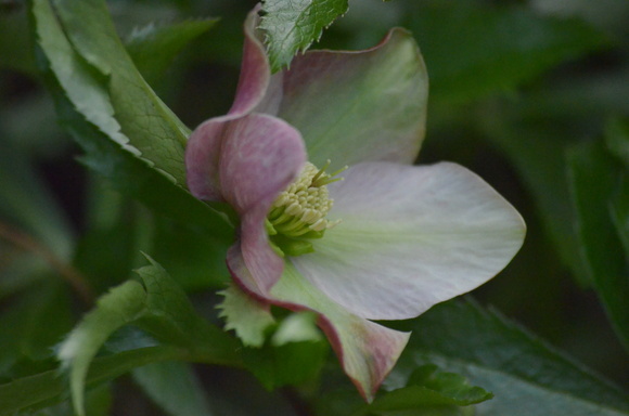
<svg viewBox="0 0 629 416">
<path fill-rule="evenodd" d="M 119 123 L 140 157 L 177 183 L 185 182 L 183 152 L 189 129 L 144 81 L 116 34 L 104 0 L 54 0 L 72 52 L 104 77 L 106 93 Z M 46 40 L 42 39 L 43 43 Z M 57 58 L 53 52 L 49 60 Z M 59 75 L 59 73 L 57 73 Z M 94 77 L 95 78 L 95 77 Z M 63 83 L 62 83 L 63 84 Z M 66 91 L 73 88 L 64 86 Z M 80 107 L 78 107 L 80 110 Z"/>
</svg>

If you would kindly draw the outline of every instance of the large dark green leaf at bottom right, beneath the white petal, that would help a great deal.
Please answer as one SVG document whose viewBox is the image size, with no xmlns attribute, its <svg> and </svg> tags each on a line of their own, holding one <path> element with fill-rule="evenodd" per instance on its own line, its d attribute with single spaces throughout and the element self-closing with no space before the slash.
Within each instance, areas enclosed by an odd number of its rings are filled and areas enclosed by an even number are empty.
<svg viewBox="0 0 629 416">
<path fill-rule="evenodd" d="M 387 388 L 403 387 L 418 366 L 435 364 L 495 394 L 475 406 L 478 416 L 629 412 L 619 388 L 475 303 L 441 303 L 410 324 L 413 335 Z"/>
</svg>

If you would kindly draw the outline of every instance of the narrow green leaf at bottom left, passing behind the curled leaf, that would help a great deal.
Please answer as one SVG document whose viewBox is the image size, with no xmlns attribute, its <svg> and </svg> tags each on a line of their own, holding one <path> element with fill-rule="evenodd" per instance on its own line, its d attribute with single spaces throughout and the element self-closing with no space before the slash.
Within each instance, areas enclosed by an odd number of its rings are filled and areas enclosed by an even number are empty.
<svg viewBox="0 0 629 416">
<path fill-rule="evenodd" d="M 193 360 L 189 351 L 175 347 L 149 347 L 97 358 L 86 378 L 88 388 L 102 385 L 129 370 L 150 363 Z M 198 358 L 197 358 L 198 359 Z M 0 416 L 13 416 L 59 403 L 67 396 L 67 379 L 59 370 L 48 370 L 0 385 Z M 89 398 L 88 398 L 89 400 Z"/>
</svg>

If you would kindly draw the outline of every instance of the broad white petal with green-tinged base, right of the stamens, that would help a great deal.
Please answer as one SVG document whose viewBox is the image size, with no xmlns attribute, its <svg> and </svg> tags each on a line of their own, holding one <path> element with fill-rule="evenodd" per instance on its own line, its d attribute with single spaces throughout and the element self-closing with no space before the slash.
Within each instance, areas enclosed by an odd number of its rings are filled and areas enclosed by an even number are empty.
<svg viewBox="0 0 629 416">
<path fill-rule="evenodd" d="M 459 165 L 368 162 L 344 177 L 329 185 L 329 218 L 343 222 L 291 260 L 359 316 L 418 316 L 493 277 L 524 240 L 518 212 Z"/>
</svg>

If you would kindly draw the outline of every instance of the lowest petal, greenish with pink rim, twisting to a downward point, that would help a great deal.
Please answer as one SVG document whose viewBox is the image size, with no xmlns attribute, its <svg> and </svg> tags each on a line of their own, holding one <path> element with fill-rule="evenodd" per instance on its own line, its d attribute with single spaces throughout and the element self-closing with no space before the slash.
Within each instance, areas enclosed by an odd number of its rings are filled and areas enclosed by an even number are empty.
<svg viewBox="0 0 629 416">
<path fill-rule="evenodd" d="M 332 301 L 286 262 L 282 277 L 270 294 L 252 290 L 253 276 L 241 256 L 228 258 L 236 282 L 254 297 L 293 311 L 310 310 L 319 314 L 318 324 L 328 336 L 343 369 L 371 402 L 377 388 L 393 369 L 410 334 L 386 328 L 349 313 Z"/>
</svg>

